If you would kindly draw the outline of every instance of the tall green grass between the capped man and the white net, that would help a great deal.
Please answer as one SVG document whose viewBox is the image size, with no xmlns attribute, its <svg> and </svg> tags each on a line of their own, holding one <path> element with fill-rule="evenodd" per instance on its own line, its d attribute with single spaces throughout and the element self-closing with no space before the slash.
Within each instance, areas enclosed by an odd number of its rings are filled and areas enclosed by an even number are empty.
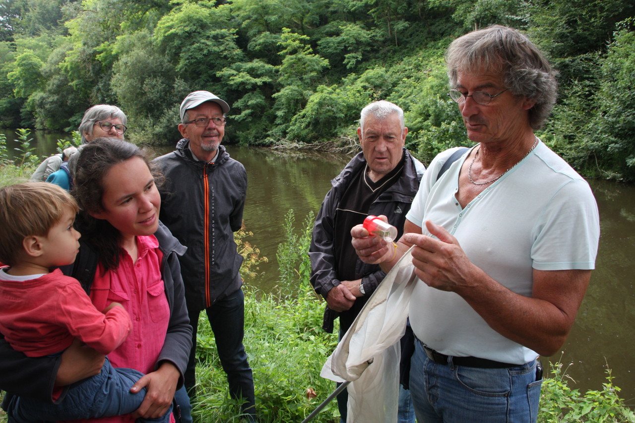
<svg viewBox="0 0 635 423">
<path fill-rule="evenodd" d="M 284 287 L 279 293 L 259 292 L 249 285 L 250 280 L 245 281 L 244 345 L 253 368 L 261 423 L 300 422 L 335 390 L 333 382 L 319 377 L 324 360 L 337 344 L 337 336 L 321 329 L 324 305 L 309 287 L 307 253 L 312 220 L 311 215 L 304 225 L 309 229 L 298 234 L 292 211 L 286 216 L 286 241 L 277 253 L 279 286 Z M 194 421 L 241 421 L 239 404 L 227 393 L 227 379 L 204 314 L 199 319 L 197 342 Z M 311 393 L 318 397 L 312 398 Z M 336 415 L 337 404 L 331 403 L 312 421 L 334 423 L 339 419 Z"/>
</svg>

